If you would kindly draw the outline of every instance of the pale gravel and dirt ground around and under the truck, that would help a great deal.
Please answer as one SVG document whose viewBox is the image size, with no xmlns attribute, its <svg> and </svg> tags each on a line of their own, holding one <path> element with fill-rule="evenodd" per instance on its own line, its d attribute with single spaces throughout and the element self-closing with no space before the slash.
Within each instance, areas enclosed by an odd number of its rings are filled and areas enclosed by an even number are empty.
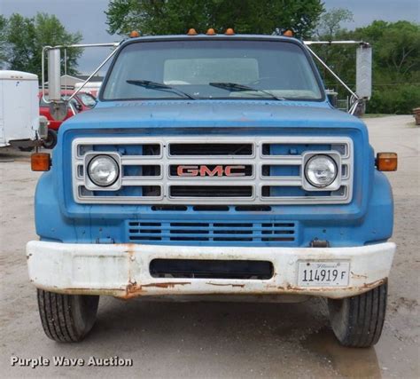
<svg viewBox="0 0 420 379">
<path fill-rule="evenodd" d="M 420 128 L 411 116 L 368 119 L 377 151 L 396 151 L 389 174 L 398 244 L 385 330 L 371 349 L 334 340 L 325 304 L 123 302 L 103 298 L 83 343 L 43 334 L 25 244 L 36 238 L 33 197 L 38 174 L 27 154 L 0 153 L 0 367 L 3 377 L 419 377 Z M 133 359 L 131 367 L 12 367 L 11 357 Z"/>
</svg>

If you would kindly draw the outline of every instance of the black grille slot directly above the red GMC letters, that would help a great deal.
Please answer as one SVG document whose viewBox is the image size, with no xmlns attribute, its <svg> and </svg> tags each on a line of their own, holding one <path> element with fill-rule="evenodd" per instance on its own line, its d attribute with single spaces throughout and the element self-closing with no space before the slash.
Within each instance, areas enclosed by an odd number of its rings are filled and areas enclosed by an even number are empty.
<svg viewBox="0 0 420 379">
<path fill-rule="evenodd" d="M 252 144 L 170 144 L 171 155 L 252 155 Z"/>
</svg>

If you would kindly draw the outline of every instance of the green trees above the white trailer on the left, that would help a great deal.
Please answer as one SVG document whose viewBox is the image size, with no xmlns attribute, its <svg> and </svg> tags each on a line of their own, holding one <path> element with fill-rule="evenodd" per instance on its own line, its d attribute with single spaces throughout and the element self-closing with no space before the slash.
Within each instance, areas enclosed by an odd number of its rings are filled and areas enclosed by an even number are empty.
<svg viewBox="0 0 420 379">
<path fill-rule="evenodd" d="M 6 45 L 4 55 L 7 59 L 7 68 L 34 73 L 41 78 L 43 46 L 73 44 L 80 41 L 82 41 L 82 35 L 67 32 L 54 15 L 38 13 L 35 18 L 26 18 L 13 13 L 7 21 L 4 32 Z M 78 49 L 67 49 L 68 74 L 77 73 L 77 59 L 81 54 L 82 51 Z M 64 71 L 64 57 L 62 57 L 62 64 Z"/>
</svg>

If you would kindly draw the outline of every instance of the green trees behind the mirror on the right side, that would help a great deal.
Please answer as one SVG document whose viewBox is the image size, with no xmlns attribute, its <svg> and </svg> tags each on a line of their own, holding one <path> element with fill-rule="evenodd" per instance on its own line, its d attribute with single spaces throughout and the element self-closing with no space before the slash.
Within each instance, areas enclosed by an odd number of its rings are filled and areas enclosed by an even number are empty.
<svg viewBox="0 0 420 379">
<path fill-rule="evenodd" d="M 322 17 L 322 20 L 323 17 Z M 324 28 L 324 26 L 321 26 Z M 324 28 L 325 30 L 325 28 Z M 369 26 L 347 31 L 339 27 L 319 38 L 365 41 L 373 48 L 373 92 L 367 104 L 371 113 L 410 114 L 420 106 L 420 25 L 408 21 L 373 21 Z M 355 87 L 355 49 L 343 45 L 319 46 L 315 51 L 352 88 Z M 337 82 L 323 68 L 328 88 Z M 346 92 L 338 91 L 339 97 Z"/>
</svg>

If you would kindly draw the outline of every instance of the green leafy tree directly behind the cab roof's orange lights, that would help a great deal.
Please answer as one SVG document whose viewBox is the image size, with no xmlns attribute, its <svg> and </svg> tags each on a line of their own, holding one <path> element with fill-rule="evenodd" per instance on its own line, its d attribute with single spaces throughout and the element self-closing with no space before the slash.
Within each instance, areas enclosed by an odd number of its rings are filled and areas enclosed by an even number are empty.
<svg viewBox="0 0 420 379">
<path fill-rule="evenodd" d="M 322 12 L 321 0 L 112 0 L 105 13 L 111 34 L 185 34 L 189 28 L 271 34 L 292 28 L 307 37 Z"/>
</svg>

